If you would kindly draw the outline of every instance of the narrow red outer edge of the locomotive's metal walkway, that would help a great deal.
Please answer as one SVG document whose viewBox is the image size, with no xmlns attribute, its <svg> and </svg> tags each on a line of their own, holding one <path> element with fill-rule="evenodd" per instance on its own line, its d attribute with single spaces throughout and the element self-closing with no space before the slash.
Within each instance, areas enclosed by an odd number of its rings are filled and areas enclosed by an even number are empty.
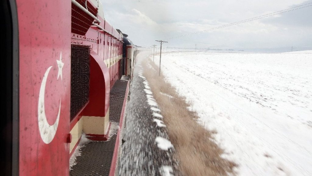
<svg viewBox="0 0 312 176">
<path fill-rule="evenodd" d="M 119 144 L 120 144 L 120 132 L 121 132 L 120 129 L 123 128 L 124 111 L 126 109 L 125 107 L 127 106 L 128 93 L 129 93 L 129 81 L 128 81 L 128 84 L 127 84 L 126 93 L 124 95 L 124 104 L 123 104 L 122 111 L 121 111 L 121 114 L 120 114 L 119 128 L 118 128 L 116 142 L 115 142 L 114 154 L 113 154 L 112 163 L 110 165 L 110 176 L 114 176 L 115 175 L 115 171 L 116 171 L 118 152 L 119 152 Z"/>
</svg>

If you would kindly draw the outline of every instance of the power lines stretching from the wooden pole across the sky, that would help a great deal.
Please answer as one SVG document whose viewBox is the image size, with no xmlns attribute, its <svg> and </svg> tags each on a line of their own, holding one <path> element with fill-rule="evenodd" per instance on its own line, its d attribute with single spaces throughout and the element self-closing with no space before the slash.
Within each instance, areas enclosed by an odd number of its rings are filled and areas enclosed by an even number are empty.
<svg viewBox="0 0 312 176">
<path fill-rule="evenodd" d="M 312 6 L 312 3 L 306 3 L 306 4 L 303 4 L 303 5 L 296 6 L 296 7 L 287 8 L 287 9 L 284 9 L 284 10 L 268 13 L 268 14 L 265 14 L 265 15 L 260 15 L 260 16 L 253 17 L 253 18 L 248 18 L 248 19 L 237 21 L 237 22 L 234 22 L 234 23 L 229 23 L 229 24 L 225 24 L 225 25 L 222 25 L 222 26 L 218 26 L 218 27 L 214 27 L 214 28 L 210 28 L 210 29 L 205 29 L 205 30 L 202 30 L 202 31 L 197 31 L 197 32 L 189 33 L 189 34 L 183 34 L 183 35 L 179 35 L 179 36 L 176 36 L 176 37 L 171 37 L 171 38 L 168 38 L 167 40 L 177 39 L 177 38 L 180 38 L 180 37 L 186 37 L 186 36 L 195 35 L 195 34 L 200 34 L 200 33 L 208 32 L 208 31 L 212 31 L 212 30 L 216 30 L 216 29 L 220 29 L 220 28 L 233 26 L 233 25 L 236 25 L 236 24 L 241 24 L 241 23 L 254 21 L 254 20 L 257 20 L 257 19 L 261 19 L 261 18 L 271 17 L 271 16 L 278 15 L 278 14 L 281 14 L 281 13 L 286 13 L 286 12 L 290 12 L 290 11 L 294 11 L 294 10 L 298 10 L 298 9 L 306 8 L 306 7 L 310 7 L 310 6 Z"/>
</svg>

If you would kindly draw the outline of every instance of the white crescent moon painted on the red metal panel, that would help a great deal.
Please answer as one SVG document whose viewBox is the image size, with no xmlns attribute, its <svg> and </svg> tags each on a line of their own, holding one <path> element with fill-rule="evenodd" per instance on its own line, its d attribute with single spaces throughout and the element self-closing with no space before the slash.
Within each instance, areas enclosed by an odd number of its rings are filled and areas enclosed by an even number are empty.
<svg viewBox="0 0 312 176">
<path fill-rule="evenodd" d="M 56 121 L 53 125 L 49 125 L 48 121 L 46 120 L 46 112 L 44 110 L 44 94 L 46 89 L 46 79 L 49 75 L 52 66 L 46 70 L 41 82 L 40 92 L 39 92 L 39 101 L 38 101 L 38 125 L 39 125 L 39 132 L 41 139 L 44 143 L 50 143 L 56 133 L 58 122 L 60 119 L 60 112 L 61 112 L 61 99 L 60 99 L 60 108 L 56 118 Z"/>
</svg>

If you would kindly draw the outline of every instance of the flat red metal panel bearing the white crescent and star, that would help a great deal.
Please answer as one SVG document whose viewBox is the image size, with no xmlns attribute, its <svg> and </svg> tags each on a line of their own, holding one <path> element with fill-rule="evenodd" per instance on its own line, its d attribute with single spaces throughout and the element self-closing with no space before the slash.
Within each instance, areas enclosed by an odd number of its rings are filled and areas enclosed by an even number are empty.
<svg viewBox="0 0 312 176">
<path fill-rule="evenodd" d="M 71 2 L 16 2 L 20 42 L 19 174 L 68 175 Z M 62 68 L 58 66 L 60 61 Z M 39 122 L 39 114 L 46 121 Z M 57 121 L 56 129 L 40 131 L 39 124 L 49 126 Z"/>
</svg>

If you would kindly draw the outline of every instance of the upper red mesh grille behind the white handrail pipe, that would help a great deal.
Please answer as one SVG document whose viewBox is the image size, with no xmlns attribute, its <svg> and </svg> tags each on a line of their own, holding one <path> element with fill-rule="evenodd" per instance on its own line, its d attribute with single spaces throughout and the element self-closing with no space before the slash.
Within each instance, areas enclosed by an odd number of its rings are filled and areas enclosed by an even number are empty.
<svg viewBox="0 0 312 176">
<path fill-rule="evenodd" d="M 76 0 L 80 5 L 85 8 L 84 0 Z M 97 8 L 93 7 L 89 1 L 87 1 L 87 9 L 94 16 L 97 16 Z M 75 4 L 71 4 L 71 32 L 79 35 L 85 35 L 90 28 L 94 19 L 87 13 L 78 8 Z"/>
</svg>

